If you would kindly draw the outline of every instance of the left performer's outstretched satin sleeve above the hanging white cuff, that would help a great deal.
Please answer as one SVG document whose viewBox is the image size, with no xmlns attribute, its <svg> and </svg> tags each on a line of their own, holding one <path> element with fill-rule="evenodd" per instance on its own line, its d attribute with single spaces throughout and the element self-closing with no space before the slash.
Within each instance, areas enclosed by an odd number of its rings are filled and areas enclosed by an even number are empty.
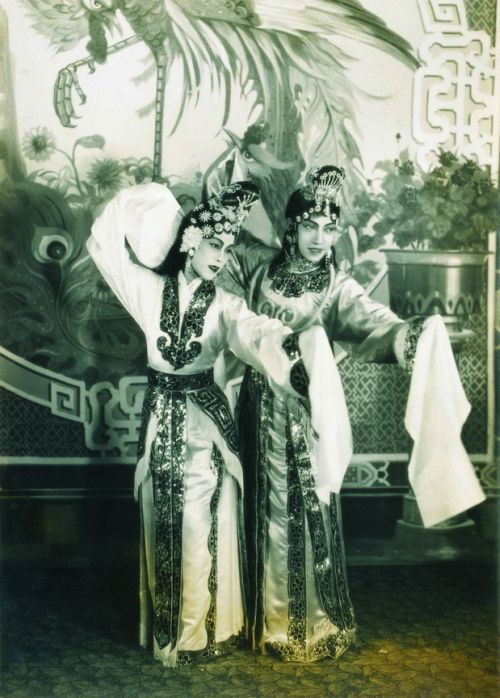
<svg viewBox="0 0 500 698">
<path fill-rule="evenodd" d="M 243 362 L 262 373 L 276 388 L 296 395 L 290 386 L 290 358 L 283 348 L 289 327 L 267 315 L 256 315 L 246 302 L 218 289 L 228 348 Z"/>
</svg>

